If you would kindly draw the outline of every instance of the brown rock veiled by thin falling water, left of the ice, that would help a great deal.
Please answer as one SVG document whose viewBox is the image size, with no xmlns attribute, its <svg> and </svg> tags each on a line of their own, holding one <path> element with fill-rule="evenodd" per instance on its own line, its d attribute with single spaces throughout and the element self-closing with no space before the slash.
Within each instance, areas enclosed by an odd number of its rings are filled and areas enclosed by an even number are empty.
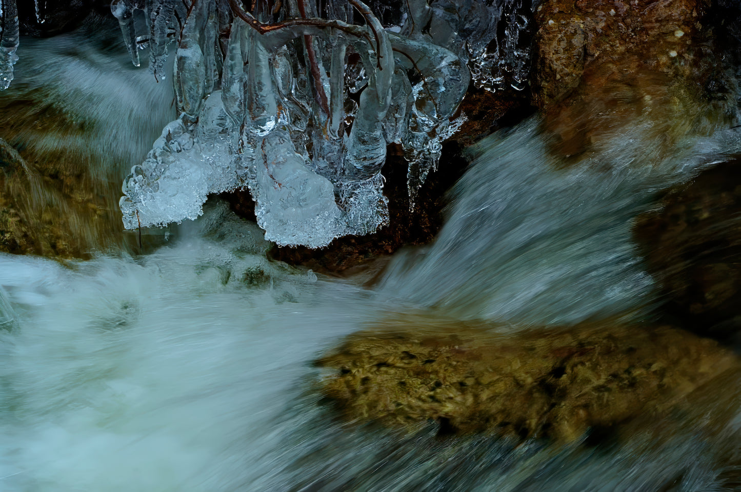
<svg viewBox="0 0 741 492">
<path fill-rule="evenodd" d="M 43 3 L 45 26 L 62 4 L 82 2 Z M 137 249 L 122 225 L 121 183 L 172 119 L 172 90 L 130 66 L 108 12 L 53 41 L 21 41 L 16 79 L 0 97 L 0 139 L 24 162 L 0 166 L 0 251 Z"/>
</svg>

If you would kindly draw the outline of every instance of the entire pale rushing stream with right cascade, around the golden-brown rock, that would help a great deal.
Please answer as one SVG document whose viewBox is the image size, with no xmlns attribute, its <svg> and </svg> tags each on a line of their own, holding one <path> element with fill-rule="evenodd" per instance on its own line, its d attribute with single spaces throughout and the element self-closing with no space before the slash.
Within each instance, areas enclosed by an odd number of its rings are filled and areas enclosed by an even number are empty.
<svg viewBox="0 0 741 492">
<path fill-rule="evenodd" d="M 738 416 L 716 439 L 689 426 L 517 445 L 350 425 L 316 390 L 313 360 L 410 310 L 519 326 L 639 316 L 652 281 L 632 218 L 737 137 L 688 139 L 652 167 L 632 165 L 639 136 L 624 137 L 599 170 L 559 169 L 536 122 L 491 137 L 437 242 L 397 255 L 373 289 L 268 261 L 259 228 L 219 202 L 145 255 L 1 255 L 0 490 L 723 490 Z"/>
</svg>

